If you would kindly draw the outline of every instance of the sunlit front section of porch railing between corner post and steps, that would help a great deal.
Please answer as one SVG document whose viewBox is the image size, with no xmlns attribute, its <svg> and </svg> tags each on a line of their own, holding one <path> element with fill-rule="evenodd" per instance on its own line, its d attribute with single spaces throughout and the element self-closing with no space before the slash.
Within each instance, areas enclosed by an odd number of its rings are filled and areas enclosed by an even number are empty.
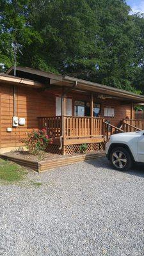
<svg viewBox="0 0 144 256">
<path fill-rule="evenodd" d="M 104 134 L 104 118 L 64 116 L 64 138 L 91 138 Z"/>
</svg>

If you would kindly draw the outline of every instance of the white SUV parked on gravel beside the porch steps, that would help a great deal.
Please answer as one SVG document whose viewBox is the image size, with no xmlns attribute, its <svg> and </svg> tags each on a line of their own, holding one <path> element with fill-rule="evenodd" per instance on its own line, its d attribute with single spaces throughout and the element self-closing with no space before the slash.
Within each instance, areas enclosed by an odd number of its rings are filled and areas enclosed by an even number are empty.
<svg viewBox="0 0 144 256">
<path fill-rule="evenodd" d="M 133 163 L 144 163 L 144 131 L 111 135 L 106 143 L 106 157 L 120 171 L 129 170 Z"/>
</svg>

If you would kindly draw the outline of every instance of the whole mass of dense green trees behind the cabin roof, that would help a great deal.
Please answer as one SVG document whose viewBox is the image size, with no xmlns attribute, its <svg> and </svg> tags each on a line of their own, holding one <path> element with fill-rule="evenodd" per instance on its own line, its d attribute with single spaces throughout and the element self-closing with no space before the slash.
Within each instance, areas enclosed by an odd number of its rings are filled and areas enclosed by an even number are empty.
<svg viewBox="0 0 144 256">
<path fill-rule="evenodd" d="M 16 29 L 19 65 L 144 91 L 144 19 L 124 0 L 2 0 L 0 7 L 1 69 L 13 63 Z"/>
</svg>

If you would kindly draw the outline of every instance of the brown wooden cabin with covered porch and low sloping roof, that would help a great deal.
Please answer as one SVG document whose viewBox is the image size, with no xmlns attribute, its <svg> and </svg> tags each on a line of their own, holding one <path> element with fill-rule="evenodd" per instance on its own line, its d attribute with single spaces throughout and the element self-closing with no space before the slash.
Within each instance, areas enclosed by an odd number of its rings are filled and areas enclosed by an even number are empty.
<svg viewBox="0 0 144 256">
<path fill-rule="evenodd" d="M 134 104 L 143 95 L 119 90 L 75 77 L 13 67 L 0 74 L 0 150 L 23 146 L 32 129 L 47 130 L 57 154 L 100 150 L 109 134 L 144 130 L 144 120 L 134 119 Z"/>
</svg>

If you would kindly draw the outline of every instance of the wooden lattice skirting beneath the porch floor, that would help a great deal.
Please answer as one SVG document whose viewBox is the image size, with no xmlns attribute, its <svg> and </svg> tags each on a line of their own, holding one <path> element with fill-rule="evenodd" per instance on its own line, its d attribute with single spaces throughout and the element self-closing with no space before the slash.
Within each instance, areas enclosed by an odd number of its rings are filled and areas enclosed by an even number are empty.
<svg viewBox="0 0 144 256">
<path fill-rule="evenodd" d="M 97 152 L 104 150 L 104 143 L 86 143 L 88 152 Z M 74 144 L 74 145 L 65 145 L 61 150 L 59 149 L 59 145 L 49 144 L 47 147 L 47 152 L 52 154 L 63 154 L 63 155 L 72 155 L 75 153 L 80 153 L 79 147 L 81 144 Z"/>
</svg>

